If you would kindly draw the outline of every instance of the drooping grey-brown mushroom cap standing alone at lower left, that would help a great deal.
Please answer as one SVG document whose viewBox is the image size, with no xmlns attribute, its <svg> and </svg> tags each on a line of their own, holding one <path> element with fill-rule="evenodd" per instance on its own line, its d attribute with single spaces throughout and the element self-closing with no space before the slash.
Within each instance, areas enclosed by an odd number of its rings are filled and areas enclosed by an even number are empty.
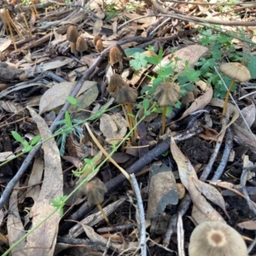
<svg viewBox="0 0 256 256">
<path fill-rule="evenodd" d="M 107 191 L 105 184 L 98 178 L 86 183 L 85 195 L 87 196 L 88 206 L 100 205 L 104 201 L 104 194 Z"/>
</svg>

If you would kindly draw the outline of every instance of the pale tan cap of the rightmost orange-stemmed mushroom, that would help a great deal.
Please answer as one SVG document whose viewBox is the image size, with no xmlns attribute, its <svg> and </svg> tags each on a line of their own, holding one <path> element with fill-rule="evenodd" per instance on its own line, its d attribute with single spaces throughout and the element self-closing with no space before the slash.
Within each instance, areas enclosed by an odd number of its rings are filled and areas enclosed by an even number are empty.
<svg viewBox="0 0 256 256">
<path fill-rule="evenodd" d="M 251 79 L 251 74 L 247 67 L 241 65 L 239 62 L 221 64 L 219 70 L 230 79 L 236 79 L 240 82 L 246 82 Z"/>
</svg>

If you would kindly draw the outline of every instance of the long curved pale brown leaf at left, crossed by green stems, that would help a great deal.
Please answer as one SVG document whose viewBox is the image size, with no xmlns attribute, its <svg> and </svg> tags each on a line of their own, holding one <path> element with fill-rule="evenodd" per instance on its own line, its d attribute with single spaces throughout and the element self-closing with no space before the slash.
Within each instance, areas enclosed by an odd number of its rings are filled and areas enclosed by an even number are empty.
<svg viewBox="0 0 256 256">
<path fill-rule="evenodd" d="M 52 133 L 44 119 L 32 108 L 28 108 L 32 119 L 37 123 L 42 140 L 49 139 Z M 41 186 L 38 200 L 32 207 L 32 224 L 36 225 L 49 215 L 55 208 L 51 206 L 50 200 L 63 195 L 63 174 L 61 168 L 61 157 L 55 139 L 51 138 L 43 144 L 44 148 L 44 181 Z M 53 172 L 54 171 L 54 172 Z M 53 185 L 54 184 L 54 185 Z M 58 233 L 60 212 L 55 212 L 44 221 L 37 230 L 27 236 L 26 254 L 28 255 L 52 255 L 55 250 L 55 242 Z"/>
</svg>

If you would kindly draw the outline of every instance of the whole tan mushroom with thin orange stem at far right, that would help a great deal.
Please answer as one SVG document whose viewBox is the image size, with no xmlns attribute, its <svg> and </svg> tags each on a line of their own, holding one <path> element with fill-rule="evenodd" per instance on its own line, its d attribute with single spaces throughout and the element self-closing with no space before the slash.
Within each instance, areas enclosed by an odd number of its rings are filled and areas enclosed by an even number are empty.
<svg viewBox="0 0 256 256">
<path fill-rule="evenodd" d="M 221 114 L 221 118 L 223 118 L 226 113 L 227 104 L 230 97 L 230 91 L 232 90 L 232 87 L 235 84 L 235 80 L 238 80 L 239 82 L 246 82 L 247 80 L 251 79 L 251 74 L 247 67 L 241 65 L 238 62 L 229 62 L 221 64 L 219 66 L 219 70 L 226 76 L 228 76 L 230 79 L 232 79 L 229 90 L 227 91 L 227 94 L 225 96 L 224 108 Z"/>
</svg>

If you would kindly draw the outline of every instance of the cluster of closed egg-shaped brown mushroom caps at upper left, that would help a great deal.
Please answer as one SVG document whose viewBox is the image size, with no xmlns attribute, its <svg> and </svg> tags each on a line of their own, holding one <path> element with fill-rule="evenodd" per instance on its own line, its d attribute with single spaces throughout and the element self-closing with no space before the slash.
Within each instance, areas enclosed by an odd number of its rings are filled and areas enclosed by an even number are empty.
<svg viewBox="0 0 256 256">
<path fill-rule="evenodd" d="M 67 29 L 67 41 L 70 43 L 70 51 L 78 57 L 78 52 L 82 56 L 82 53 L 88 49 L 88 45 L 85 39 L 80 36 L 77 28 L 75 26 L 68 26 Z M 103 44 L 100 36 L 95 36 L 93 38 L 93 44 L 98 52 L 102 52 Z"/>
</svg>

